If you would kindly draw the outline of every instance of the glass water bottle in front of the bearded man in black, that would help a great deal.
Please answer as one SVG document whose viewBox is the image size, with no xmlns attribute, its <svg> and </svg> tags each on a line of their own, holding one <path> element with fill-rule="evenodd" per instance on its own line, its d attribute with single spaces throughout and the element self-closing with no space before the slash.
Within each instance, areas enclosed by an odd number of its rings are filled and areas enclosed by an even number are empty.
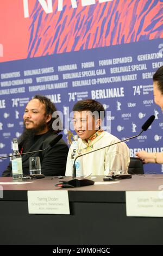
<svg viewBox="0 0 163 256">
<path fill-rule="evenodd" d="M 17 138 L 13 139 L 13 155 L 16 155 L 16 156 L 11 157 L 12 178 L 22 179 L 23 178 L 22 156 L 18 153 Z"/>
</svg>

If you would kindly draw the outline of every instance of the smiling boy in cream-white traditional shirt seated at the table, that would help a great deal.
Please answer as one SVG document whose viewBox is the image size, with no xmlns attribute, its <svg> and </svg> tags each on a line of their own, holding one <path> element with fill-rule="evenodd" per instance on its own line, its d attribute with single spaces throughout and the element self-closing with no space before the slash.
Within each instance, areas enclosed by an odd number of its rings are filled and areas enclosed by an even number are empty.
<svg viewBox="0 0 163 256">
<path fill-rule="evenodd" d="M 101 129 L 104 107 L 95 100 L 78 101 L 73 107 L 73 125 L 79 139 L 79 150 L 85 154 L 96 149 L 120 141 L 117 137 Z M 72 176 L 73 144 L 68 151 L 66 176 Z M 92 152 L 80 157 L 84 176 L 106 175 L 113 172 L 127 174 L 129 165 L 129 148 L 126 143 L 118 143 L 111 147 Z"/>
</svg>

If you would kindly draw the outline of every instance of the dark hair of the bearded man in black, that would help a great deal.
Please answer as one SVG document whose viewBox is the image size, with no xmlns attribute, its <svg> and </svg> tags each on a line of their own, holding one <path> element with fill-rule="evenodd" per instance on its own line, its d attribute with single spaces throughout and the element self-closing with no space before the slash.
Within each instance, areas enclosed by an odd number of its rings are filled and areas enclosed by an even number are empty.
<svg viewBox="0 0 163 256">
<path fill-rule="evenodd" d="M 33 99 L 37 99 L 39 100 L 41 103 L 43 103 L 45 105 L 45 114 L 53 114 L 53 112 L 57 112 L 57 108 L 55 107 L 54 103 L 49 100 L 46 96 L 42 96 L 42 95 L 35 95 L 33 97 Z M 53 131 L 55 133 L 59 133 L 61 130 L 54 130 L 52 127 L 53 121 L 56 120 L 57 118 L 59 118 L 59 116 L 55 117 L 55 118 L 51 118 L 50 121 L 48 121 L 47 126 L 48 126 L 48 130 L 49 131 Z"/>
</svg>

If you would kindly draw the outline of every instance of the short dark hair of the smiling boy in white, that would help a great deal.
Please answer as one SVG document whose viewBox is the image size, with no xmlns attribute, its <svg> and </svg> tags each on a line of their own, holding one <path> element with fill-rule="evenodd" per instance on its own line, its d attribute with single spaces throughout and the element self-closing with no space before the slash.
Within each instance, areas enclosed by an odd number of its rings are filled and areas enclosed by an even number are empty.
<svg viewBox="0 0 163 256">
<path fill-rule="evenodd" d="M 99 117 L 102 116 L 104 118 L 105 116 L 105 109 L 103 105 L 100 102 L 92 99 L 78 101 L 73 106 L 72 110 L 73 111 L 91 111 L 92 113 L 98 112 Z M 101 113 L 103 113 L 103 115 L 101 115 Z"/>
</svg>

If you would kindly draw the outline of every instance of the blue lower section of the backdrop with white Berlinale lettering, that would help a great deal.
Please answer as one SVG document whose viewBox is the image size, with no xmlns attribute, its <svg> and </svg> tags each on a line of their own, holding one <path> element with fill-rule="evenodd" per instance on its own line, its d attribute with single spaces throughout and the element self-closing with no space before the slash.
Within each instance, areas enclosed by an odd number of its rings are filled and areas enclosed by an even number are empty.
<svg viewBox="0 0 163 256">
<path fill-rule="evenodd" d="M 0 156 L 12 152 L 12 138 L 23 130 L 24 108 L 36 94 L 56 104 L 66 141 L 68 134 L 75 134 L 70 116 L 74 103 L 92 98 L 107 112 L 104 129 L 120 139 L 138 134 L 154 114 L 149 130 L 127 144 L 130 156 L 142 149 L 163 151 L 163 119 L 154 103 L 152 82 L 163 65 L 162 51 L 162 39 L 155 39 L 0 64 Z M 8 162 L 1 160 L 1 173 Z M 163 166 L 148 164 L 146 172 L 153 171 L 162 173 Z"/>
</svg>

